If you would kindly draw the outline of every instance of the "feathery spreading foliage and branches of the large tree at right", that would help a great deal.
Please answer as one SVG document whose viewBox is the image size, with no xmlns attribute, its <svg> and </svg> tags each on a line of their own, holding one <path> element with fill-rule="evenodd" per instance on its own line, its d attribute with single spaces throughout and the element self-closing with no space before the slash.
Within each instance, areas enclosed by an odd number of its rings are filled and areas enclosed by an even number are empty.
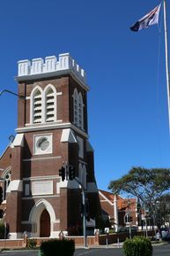
<svg viewBox="0 0 170 256">
<path fill-rule="evenodd" d="M 164 195 L 170 189 L 170 169 L 133 167 L 127 175 L 110 182 L 108 188 L 114 193 L 125 192 L 137 197 L 152 224 L 160 227 L 166 222 L 170 205 L 166 204 L 169 199 L 166 200 Z M 158 202 L 162 202 L 160 207 Z M 139 207 L 137 209 L 140 210 Z"/>
</svg>

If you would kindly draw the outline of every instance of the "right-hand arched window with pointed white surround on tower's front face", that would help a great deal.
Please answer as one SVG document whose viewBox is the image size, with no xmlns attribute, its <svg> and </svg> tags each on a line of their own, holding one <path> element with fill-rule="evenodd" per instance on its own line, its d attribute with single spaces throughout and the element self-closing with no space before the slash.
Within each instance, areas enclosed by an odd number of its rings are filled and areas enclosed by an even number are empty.
<svg viewBox="0 0 170 256">
<path fill-rule="evenodd" d="M 55 88 L 53 88 L 52 85 L 48 85 L 48 87 L 45 89 L 45 122 L 56 120 L 55 95 Z"/>
</svg>

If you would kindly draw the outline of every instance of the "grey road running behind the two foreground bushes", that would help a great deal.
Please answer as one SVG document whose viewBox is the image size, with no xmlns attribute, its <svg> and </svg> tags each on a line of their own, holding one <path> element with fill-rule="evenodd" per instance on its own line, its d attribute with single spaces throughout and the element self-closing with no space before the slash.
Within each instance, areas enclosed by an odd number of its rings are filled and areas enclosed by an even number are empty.
<svg viewBox="0 0 170 256">
<path fill-rule="evenodd" d="M 118 248 L 92 248 L 76 249 L 74 256 L 123 256 L 122 249 Z M 152 256 L 170 255 L 170 244 L 153 246 Z M 38 256 L 38 251 L 4 251 L 0 256 Z"/>
</svg>

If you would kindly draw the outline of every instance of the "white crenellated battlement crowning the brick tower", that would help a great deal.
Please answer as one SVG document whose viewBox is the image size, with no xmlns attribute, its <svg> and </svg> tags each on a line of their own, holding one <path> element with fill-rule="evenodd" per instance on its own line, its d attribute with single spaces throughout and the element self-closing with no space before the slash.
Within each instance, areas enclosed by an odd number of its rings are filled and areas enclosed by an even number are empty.
<svg viewBox="0 0 170 256">
<path fill-rule="evenodd" d="M 80 68 L 76 61 L 70 57 L 70 53 L 59 55 L 58 61 L 55 56 L 43 58 L 33 58 L 18 61 L 18 80 L 23 76 L 33 76 L 38 74 L 64 73 L 68 71 L 78 77 L 80 81 L 86 83 L 85 70 Z"/>
</svg>

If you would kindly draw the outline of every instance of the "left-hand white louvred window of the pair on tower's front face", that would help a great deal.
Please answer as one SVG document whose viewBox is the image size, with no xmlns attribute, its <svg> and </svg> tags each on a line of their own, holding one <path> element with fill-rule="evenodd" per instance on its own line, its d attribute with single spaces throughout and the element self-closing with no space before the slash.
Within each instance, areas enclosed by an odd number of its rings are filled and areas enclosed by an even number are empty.
<svg viewBox="0 0 170 256">
<path fill-rule="evenodd" d="M 37 90 L 33 96 L 33 123 L 41 123 L 42 120 L 42 96 Z"/>
</svg>

